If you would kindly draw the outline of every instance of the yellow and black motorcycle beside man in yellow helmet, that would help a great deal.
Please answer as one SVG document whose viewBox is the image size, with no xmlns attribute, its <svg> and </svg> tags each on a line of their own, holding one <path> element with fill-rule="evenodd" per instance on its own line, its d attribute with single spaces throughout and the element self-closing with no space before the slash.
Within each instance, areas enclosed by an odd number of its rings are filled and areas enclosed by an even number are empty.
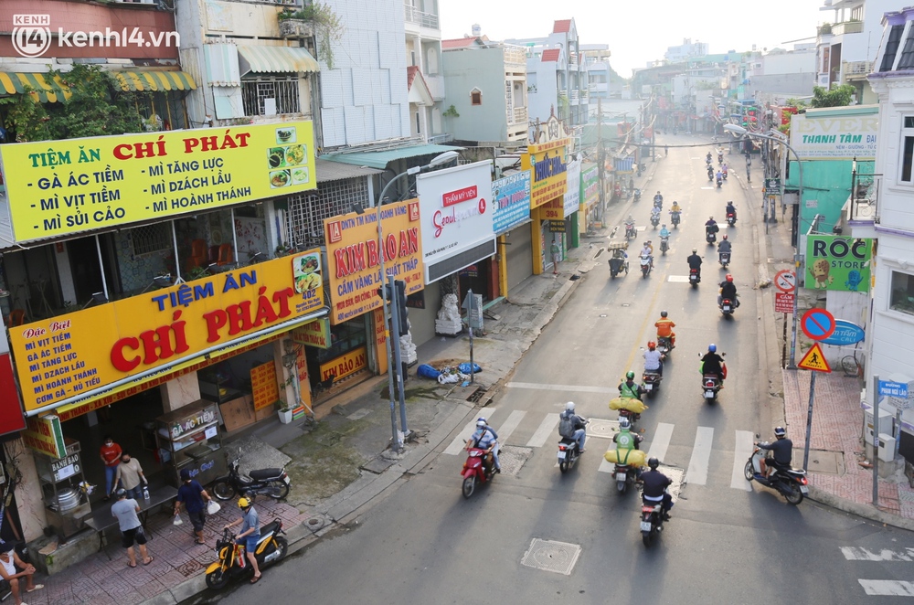
<svg viewBox="0 0 914 605">
<path fill-rule="evenodd" d="M 289 543 L 282 534 L 282 521 L 275 519 L 260 527 L 260 540 L 257 542 L 257 567 L 262 571 L 264 566 L 282 559 L 289 551 Z M 245 556 L 245 547 L 235 543 L 236 536 L 231 530 L 223 529 L 222 537 L 216 541 L 218 560 L 207 568 L 207 586 L 211 589 L 224 589 L 228 581 L 235 578 L 252 576 L 253 566 Z"/>
</svg>

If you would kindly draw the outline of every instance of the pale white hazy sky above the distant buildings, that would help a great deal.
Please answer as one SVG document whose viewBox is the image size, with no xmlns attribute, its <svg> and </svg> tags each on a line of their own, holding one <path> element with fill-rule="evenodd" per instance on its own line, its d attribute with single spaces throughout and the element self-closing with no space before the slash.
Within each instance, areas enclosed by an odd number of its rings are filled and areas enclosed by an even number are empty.
<svg viewBox="0 0 914 605">
<path fill-rule="evenodd" d="M 683 38 L 706 42 L 712 54 L 753 44 L 789 50 L 793 45 L 784 43 L 799 38 L 814 42 L 815 27 L 834 17 L 832 10 L 820 11 L 822 5 L 824 0 L 438 0 L 443 39 L 469 35 L 474 23 L 493 40 L 545 37 L 557 19 L 574 18 L 580 43 L 608 45 L 612 69 L 625 78 L 664 58 L 666 48 Z"/>
</svg>

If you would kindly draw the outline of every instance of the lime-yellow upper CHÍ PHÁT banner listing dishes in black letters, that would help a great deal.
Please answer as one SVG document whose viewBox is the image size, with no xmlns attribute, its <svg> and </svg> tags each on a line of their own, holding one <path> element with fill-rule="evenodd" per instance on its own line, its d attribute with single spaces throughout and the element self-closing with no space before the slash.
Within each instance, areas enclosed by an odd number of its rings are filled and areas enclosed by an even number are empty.
<svg viewBox="0 0 914 605">
<path fill-rule="evenodd" d="M 16 241 L 314 189 L 312 122 L 0 145 Z"/>
</svg>

